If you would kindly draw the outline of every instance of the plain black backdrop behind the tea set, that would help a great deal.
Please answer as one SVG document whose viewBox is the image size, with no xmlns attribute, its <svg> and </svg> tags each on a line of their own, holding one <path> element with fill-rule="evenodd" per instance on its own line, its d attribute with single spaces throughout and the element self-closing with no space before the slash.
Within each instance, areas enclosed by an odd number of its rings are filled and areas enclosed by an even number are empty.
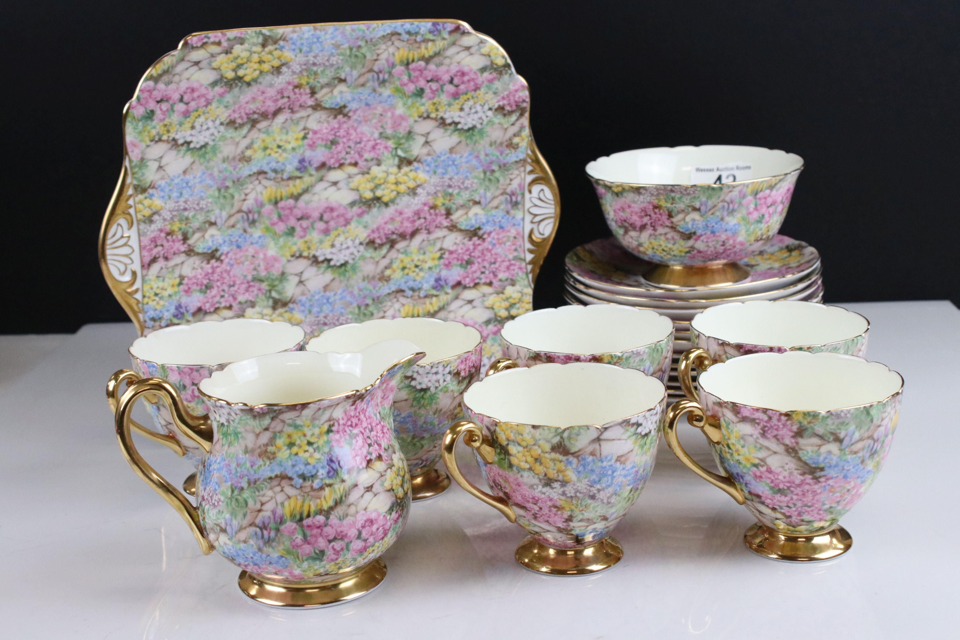
<svg viewBox="0 0 960 640">
<path fill-rule="evenodd" d="M 960 300 L 960 2 L 28 2 L 0 9 L 4 145 L 0 333 L 125 320 L 96 257 L 119 173 L 120 111 L 194 31 L 454 17 L 531 86 L 563 213 L 535 293 L 608 235 L 584 176 L 639 147 L 744 144 L 806 168 L 781 232 L 820 249 L 829 301 Z"/>
</svg>

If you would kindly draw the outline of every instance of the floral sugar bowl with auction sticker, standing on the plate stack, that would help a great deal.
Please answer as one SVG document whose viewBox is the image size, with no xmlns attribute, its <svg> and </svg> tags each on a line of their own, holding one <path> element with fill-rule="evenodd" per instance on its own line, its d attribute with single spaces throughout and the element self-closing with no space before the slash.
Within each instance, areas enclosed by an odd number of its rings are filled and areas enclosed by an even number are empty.
<svg viewBox="0 0 960 640">
<path fill-rule="evenodd" d="M 607 224 L 634 255 L 660 265 L 661 286 L 711 286 L 750 273 L 736 261 L 780 229 L 804 159 L 729 145 L 635 149 L 587 165 Z"/>
</svg>

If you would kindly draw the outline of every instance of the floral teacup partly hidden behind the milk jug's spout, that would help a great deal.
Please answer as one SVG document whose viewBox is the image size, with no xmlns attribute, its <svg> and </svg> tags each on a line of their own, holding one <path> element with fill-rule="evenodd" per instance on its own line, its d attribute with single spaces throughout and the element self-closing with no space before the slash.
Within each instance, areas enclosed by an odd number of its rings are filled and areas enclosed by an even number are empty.
<svg viewBox="0 0 960 640">
<path fill-rule="evenodd" d="M 359 351 L 396 338 L 409 340 L 426 352 L 417 367 L 398 382 L 394 398 L 394 426 L 410 468 L 413 499 L 425 500 L 450 486 L 449 477 L 436 468 L 440 443 L 450 424 L 463 416 L 461 398 L 480 375 L 480 332 L 456 320 L 368 320 L 327 329 L 306 348 Z"/>
</svg>

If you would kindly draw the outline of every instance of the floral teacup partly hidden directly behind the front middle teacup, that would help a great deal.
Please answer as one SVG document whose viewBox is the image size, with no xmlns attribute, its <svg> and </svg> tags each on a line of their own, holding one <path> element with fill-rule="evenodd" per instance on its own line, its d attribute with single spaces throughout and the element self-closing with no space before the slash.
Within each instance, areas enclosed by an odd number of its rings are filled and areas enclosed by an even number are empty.
<svg viewBox="0 0 960 640">
<path fill-rule="evenodd" d="M 665 383 L 673 322 L 622 304 L 571 304 L 532 311 L 503 325 L 504 353 L 521 367 L 596 362 L 636 368 Z"/>
</svg>

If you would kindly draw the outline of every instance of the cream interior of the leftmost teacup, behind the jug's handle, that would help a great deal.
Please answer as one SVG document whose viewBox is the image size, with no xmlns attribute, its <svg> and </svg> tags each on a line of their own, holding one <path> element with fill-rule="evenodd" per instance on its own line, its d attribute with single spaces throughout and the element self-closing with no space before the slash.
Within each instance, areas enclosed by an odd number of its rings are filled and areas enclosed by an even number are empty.
<svg viewBox="0 0 960 640">
<path fill-rule="evenodd" d="M 158 365 L 214 367 L 292 349 L 303 337 L 289 322 L 237 318 L 158 329 L 133 341 L 130 352 Z"/>
</svg>

